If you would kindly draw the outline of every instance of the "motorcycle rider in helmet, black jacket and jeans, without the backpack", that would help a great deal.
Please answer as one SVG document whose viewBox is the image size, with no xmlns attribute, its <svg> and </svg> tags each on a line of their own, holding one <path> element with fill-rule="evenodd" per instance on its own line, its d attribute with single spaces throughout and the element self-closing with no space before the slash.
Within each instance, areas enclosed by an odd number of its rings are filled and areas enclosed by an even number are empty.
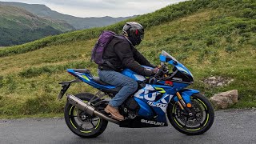
<svg viewBox="0 0 256 144">
<path fill-rule="evenodd" d="M 105 63 L 98 66 L 98 76 L 103 82 L 122 87 L 105 108 L 106 113 L 110 113 L 112 117 L 119 121 L 124 120 L 124 117 L 118 112 L 118 106 L 122 105 L 122 102 L 138 89 L 138 82 L 121 74 L 120 71 L 129 68 L 137 74 L 150 76 L 158 70 L 158 68 L 150 70 L 142 67 L 141 65 L 155 66 L 150 64 L 134 47 L 142 42 L 144 37 L 143 26 L 138 22 L 126 22 L 122 32 L 122 36 L 125 38 L 114 37 L 110 41 L 102 57 Z"/>
</svg>

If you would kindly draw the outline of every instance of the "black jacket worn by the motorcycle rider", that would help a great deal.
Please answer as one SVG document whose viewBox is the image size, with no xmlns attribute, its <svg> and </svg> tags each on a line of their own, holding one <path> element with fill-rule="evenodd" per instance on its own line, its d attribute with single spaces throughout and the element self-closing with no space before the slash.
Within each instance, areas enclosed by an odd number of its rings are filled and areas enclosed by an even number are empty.
<svg viewBox="0 0 256 144">
<path fill-rule="evenodd" d="M 141 65 L 153 67 L 153 65 L 151 65 L 150 62 L 148 62 L 146 58 L 134 48 L 134 46 L 131 46 L 126 38 L 122 39 L 114 37 L 106 47 L 103 59 L 109 61 L 117 71 L 129 68 L 130 70 L 145 76 L 149 76 L 149 74 L 146 73 L 145 68 Z M 102 66 L 99 66 L 99 69 L 114 70 L 106 62 L 103 63 Z"/>
</svg>

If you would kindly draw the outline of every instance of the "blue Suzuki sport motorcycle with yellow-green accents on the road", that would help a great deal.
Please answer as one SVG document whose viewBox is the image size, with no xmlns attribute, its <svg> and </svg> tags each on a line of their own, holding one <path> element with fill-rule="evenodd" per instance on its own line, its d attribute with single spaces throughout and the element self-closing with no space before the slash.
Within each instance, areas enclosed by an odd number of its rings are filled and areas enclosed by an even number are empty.
<svg viewBox="0 0 256 144">
<path fill-rule="evenodd" d="M 63 97 L 74 82 L 86 82 L 98 89 L 98 92 L 66 94 L 66 125 L 82 138 L 95 138 L 106 130 L 108 122 L 130 128 L 161 127 L 168 126 L 168 118 L 170 124 L 183 134 L 205 133 L 214 122 L 213 106 L 198 90 L 186 89 L 194 79 L 190 70 L 182 63 L 164 50 L 160 61 L 159 70 L 152 77 L 144 77 L 129 69 L 122 70 L 122 74 L 138 82 L 137 92 L 130 95 L 118 108 L 120 114 L 125 117 L 124 121 L 111 118 L 104 111 L 110 98 L 114 98 L 120 87 L 102 82 L 90 74 L 90 70 L 68 69 L 67 72 L 76 79 L 59 83 L 62 90 L 58 99 Z M 168 66 L 172 67 L 171 71 Z"/>
</svg>

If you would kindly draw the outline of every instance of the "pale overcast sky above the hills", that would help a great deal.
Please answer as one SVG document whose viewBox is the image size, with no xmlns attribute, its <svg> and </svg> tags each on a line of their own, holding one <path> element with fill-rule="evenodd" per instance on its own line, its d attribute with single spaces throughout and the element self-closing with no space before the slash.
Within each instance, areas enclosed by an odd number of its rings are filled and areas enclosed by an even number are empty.
<svg viewBox="0 0 256 144">
<path fill-rule="evenodd" d="M 51 10 L 77 17 L 126 17 L 146 14 L 185 0 L 0 0 L 44 4 Z"/>
</svg>

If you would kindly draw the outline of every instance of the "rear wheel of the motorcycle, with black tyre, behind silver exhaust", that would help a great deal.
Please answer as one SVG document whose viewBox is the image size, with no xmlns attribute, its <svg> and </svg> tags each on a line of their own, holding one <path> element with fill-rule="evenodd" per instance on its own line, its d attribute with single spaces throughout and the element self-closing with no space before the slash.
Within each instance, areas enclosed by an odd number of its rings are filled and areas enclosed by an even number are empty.
<svg viewBox="0 0 256 144">
<path fill-rule="evenodd" d="M 84 102 L 89 102 L 94 94 L 82 93 L 76 94 Z M 102 111 L 105 106 L 98 106 L 96 110 Z M 82 138 L 95 138 L 106 130 L 107 121 L 96 116 L 90 116 L 85 111 L 79 110 L 76 106 L 66 102 L 64 116 L 66 125 L 70 130 Z"/>
</svg>

